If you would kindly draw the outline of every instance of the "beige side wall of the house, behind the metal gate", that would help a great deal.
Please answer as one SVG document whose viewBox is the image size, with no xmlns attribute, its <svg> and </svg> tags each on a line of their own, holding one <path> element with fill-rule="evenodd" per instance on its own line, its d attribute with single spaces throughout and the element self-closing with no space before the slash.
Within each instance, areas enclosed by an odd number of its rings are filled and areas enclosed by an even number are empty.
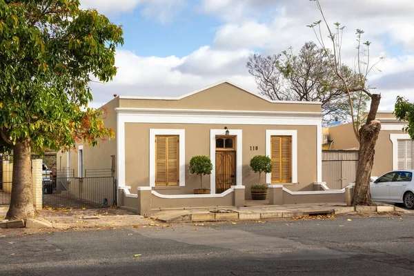
<svg viewBox="0 0 414 276">
<path fill-rule="evenodd" d="M 112 128 L 115 133 L 117 131 L 117 113 L 115 108 L 119 106 L 119 98 L 112 99 L 106 103 L 102 108 L 108 110 L 108 115 L 103 119 L 103 123 L 106 128 Z M 70 150 L 70 169 L 75 170 L 75 177 L 78 177 L 78 149 L 79 145 L 76 144 L 76 150 Z M 116 155 L 117 141 L 116 137 L 99 141 L 97 146 L 83 145 L 83 168 L 84 169 L 109 169 L 112 166 L 111 155 Z M 57 153 L 57 169 L 66 170 L 68 152 Z"/>
</svg>

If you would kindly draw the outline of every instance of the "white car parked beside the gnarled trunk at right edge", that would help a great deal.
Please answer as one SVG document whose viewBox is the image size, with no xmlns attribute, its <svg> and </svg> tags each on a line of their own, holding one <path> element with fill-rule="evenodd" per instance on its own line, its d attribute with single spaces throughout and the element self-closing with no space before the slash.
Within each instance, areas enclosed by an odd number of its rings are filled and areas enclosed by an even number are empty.
<svg viewBox="0 0 414 276">
<path fill-rule="evenodd" d="M 414 209 L 414 170 L 393 170 L 371 182 L 373 201 L 402 203 Z"/>
</svg>

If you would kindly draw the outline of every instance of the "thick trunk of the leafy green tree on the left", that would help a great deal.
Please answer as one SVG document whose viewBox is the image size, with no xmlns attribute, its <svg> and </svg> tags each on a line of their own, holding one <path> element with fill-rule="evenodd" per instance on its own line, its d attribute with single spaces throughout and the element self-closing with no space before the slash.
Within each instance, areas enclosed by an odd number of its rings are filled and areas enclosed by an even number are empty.
<svg viewBox="0 0 414 276">
<path fill-rule="evenodd" d="M 34 216 L 31 153 L 29 140 L 13 146 L 12 198 L 6 219 Z"/>
</svg>

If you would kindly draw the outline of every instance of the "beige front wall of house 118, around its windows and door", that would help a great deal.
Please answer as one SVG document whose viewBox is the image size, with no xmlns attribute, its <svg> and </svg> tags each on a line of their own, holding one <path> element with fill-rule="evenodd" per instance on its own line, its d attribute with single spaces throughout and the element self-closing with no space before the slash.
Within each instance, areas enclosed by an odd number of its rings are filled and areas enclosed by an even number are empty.
<svg viewBox="0 0 414 276">
<path fill-rule="evenodd" d="M 299 184 L 292 190 L 312 190 L 317 181 L 317 127 L 316 126 L 266 126 L 266 125 L 226 125 L 230 130 L 243 131 L 243 185 L 246 198 L 250 198 L 250 186 L 257 184 L 258 175 L 250 170 L 250 159 L 255 155 L 266 155 L 266 130 L 297 130 L 297 179 Z M 161 194 L 191 194 L 199 187 L 199 177 L 190 175 L 188 162 L 195 155 L 210 156 L 210 129 L 224 129 L 224 125 L 209 124 L 135 124 L 125 127 L 126 185 L 131 190 L 137 186 L 149 186 L 150 128 L 184 129 L 186 135 L 186 186 L 155 188 Z M 250 151 L 250 146 L 258 150 Z M 262 175 L 264 181 L 264 175 Z M 210 176 L 204 176 L 203 186 L 210 186 Z M 309 188 L 310 187 L 310 188 Z"/>
</svg>

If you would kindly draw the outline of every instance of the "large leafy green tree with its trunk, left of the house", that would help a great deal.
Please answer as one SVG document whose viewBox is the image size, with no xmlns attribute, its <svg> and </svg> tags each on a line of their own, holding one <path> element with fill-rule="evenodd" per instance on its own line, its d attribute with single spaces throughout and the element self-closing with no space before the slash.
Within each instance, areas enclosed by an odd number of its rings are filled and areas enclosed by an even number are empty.
<svg viewBox="0 0 414 276">
<path fill-rule="evenodd" d="M 88 108 L 91 77 L 116 74 L 122 30 L 79 0 L 0 0 L 0 134 L 13 150 L 6 218 L 34 215 L 30 153 L 95 146 L 113 136 L 105 110 Z M 5 148 L 6 147 L 6 148 Z"/>
</svg>

